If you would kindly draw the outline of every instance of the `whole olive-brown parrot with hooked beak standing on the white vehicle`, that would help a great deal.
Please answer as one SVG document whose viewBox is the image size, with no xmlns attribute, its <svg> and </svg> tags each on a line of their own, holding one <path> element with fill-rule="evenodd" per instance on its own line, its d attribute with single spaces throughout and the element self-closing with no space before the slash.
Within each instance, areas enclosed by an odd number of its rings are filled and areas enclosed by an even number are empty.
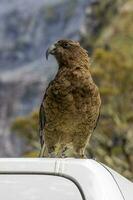
<svg viewBox="0 0 133 200">
<path fill-rule="evenodd" d="M 40 107 L 41 156 L 84 157 L 101 105 L 89 57 L 78 42 L 60 40 L 47 50 L 59 69 Z"/>
</svg>

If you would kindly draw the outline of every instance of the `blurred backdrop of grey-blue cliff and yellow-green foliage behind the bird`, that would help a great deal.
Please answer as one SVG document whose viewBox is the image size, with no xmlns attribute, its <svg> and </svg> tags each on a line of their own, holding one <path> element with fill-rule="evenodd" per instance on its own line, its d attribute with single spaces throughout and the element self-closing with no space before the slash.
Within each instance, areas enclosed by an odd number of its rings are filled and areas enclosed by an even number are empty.
<svg viewBox="0 0 133 200">
<path fill-rule="evenodd" d="M 87 148 L 133 180 L 133 0 L 0 0 L 0 157 L 36 157 L 38 109 L 57 72 L 54 41 L 80 41 L 102 97 Z"/>
</svg>

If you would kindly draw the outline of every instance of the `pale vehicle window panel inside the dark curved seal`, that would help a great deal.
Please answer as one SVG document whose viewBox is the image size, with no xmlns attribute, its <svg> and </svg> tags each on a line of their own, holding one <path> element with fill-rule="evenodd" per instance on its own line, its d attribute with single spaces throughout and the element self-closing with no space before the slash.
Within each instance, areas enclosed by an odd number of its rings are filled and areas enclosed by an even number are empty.
<svg viewBox="0 0 133 200">
<path fill-rule="evenodd" d="M 52 175 L 0 175 L 1 200 L 82 200 L 70 180 Z"/>
</svg>

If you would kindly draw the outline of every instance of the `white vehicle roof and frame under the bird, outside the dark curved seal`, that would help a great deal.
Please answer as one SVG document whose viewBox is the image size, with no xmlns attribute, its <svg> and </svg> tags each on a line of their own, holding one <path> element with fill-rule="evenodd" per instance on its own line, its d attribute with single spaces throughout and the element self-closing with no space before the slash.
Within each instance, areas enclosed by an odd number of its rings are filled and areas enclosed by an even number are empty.
<svg viewBox="0 0 133 200">
<path fill-rule="evenodd" d="M 92 159 L 1 158 L 0 174 L 51 174 L 72 180 L 89 200 L 133 200 L 133 183 Z"/>
</svg>

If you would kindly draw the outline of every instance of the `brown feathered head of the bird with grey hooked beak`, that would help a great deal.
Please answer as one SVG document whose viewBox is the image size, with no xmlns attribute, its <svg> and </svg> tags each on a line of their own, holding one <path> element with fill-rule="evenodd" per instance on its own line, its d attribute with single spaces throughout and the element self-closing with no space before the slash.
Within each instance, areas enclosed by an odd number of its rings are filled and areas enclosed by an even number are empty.
<svg viewBox="0 0 133 200">
<path fill-rule="evenodd" d="M 46 59 L 49 54 L 54 55 L 59 66 L 83 65 L 89 63 L 87 51 L 83 49 L 79 42 L 73 40 L 59 40 L 52 44 L 46 51 Z"/>
</svg>

